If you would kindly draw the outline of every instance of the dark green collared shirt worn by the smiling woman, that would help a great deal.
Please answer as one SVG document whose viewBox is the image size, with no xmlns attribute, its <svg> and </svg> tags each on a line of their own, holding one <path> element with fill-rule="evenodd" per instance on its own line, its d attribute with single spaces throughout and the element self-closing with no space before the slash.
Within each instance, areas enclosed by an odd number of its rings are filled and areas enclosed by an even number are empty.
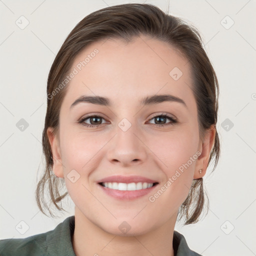
<svg viewBox="0 0 256 256">
<path fill-rule="evenodd" d="M 74 215 L 45 233 L 0 240 L 0 256 L 75 256 L 73 232 Z M 175 230 L 172 244 L 175 256 L 202 256 L 190 250 L 185 237 Z"/>
</svg>

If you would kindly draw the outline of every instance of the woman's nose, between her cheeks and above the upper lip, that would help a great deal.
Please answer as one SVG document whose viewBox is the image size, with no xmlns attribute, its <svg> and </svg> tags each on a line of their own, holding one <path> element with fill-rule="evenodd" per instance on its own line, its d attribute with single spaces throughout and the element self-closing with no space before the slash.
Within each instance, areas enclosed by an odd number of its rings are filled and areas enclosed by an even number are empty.
<svg viewBox="0 0 256 256">
<path fill-rule="evenodd" d="M 141 164 L 146 160 L 146 145 L 143 136 L 138 129 L 131 125 L 126 131 L 116 127 L 116 134 L 109 141 L 107 158 L 113 164 L 120 166 L 132 166 Z"/>
</svg>

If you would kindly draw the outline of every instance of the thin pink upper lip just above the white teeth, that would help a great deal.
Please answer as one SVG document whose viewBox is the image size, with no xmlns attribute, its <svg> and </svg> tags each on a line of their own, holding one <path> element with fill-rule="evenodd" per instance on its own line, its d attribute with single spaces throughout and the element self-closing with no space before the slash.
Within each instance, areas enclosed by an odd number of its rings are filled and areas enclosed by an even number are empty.
<svg viewBox="0 0 256 256">
<path fill-rule="evenodd" d="M 97 181 L 101 182 L 117 182 L 117 183 L 137 183 L 137 182 L 146 182 L 146 183 L 156 183 L 156 180 L 146 178 L 143 176 L 131 175 L 131 176 L 122 176 L 122 175 L 112 175 L 105 178 L 102 178 Z M 157 182 L 158 183 L 158 182 Z"/>
</svg>

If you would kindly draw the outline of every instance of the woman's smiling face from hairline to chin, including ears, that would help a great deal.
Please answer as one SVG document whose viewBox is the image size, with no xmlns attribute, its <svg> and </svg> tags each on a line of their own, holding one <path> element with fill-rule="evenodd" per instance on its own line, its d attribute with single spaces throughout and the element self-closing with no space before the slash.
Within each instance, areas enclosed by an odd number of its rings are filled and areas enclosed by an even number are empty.
<svg viewBox="0 0 256 256">
<path fill-rule="evenodd" d="M 48 129 L 53 171 L 64 177 L 75 211 L 119 235 L 123 221 L 129 235 L 175 222 L 192 179 L 204 174 L 198 176 L 198 169 L 206 169 L 210 149 L 199 139 L 188 61 L 166 42 L 141 38 L 98 41 L 81 51 L 61 104 L 59 137 Z M 165 94 L 170 96 L 143 101 Z M 77 102 L 81 96 L 105 97 L 109 104 Z M 113 175 L 157 184 L 118 196 L 119 190 L 98 183 Z"/>
</svg>

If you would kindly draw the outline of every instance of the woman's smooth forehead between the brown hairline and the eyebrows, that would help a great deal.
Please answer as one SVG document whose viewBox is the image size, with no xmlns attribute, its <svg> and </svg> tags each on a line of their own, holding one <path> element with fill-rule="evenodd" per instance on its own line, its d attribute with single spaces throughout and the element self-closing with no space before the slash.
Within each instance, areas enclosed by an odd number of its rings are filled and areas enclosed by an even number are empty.
<svg viewBox="0 0 256 256">
<path fill-rule="evenodd" d="M 171 93 L 193 97 L 188 60 L 167 42 L 139 36 L 93 42 L 73 60 L 64 101 L 81 95 L 111 98 L 116 105 L 139 102 L 141 96 Z"/>
</svg>

